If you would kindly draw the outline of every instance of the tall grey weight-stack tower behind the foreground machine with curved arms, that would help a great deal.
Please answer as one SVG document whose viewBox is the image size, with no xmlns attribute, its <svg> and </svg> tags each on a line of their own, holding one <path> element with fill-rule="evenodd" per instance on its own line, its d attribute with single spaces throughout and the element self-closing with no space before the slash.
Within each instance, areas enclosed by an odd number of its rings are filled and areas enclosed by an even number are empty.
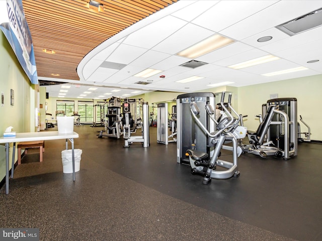
<svg viewBox="0 0 322 241">
<path fill-rule="evenodd" d="M 207 147 L 207 135 L 193 118 L 190 103 L 194 102 L 200 109 L 199 122 L 209 132 L 214 132 L 215 123 L 209 121 L 205 105 L 215 106 L 215 95 L 210 92 L 186 93 L 177 96 L 177 162 L 190 164 L 189 156 L 186 156 L 188 149 L 207 153 L 210 156 L 210 148 Z"/>
</svg>

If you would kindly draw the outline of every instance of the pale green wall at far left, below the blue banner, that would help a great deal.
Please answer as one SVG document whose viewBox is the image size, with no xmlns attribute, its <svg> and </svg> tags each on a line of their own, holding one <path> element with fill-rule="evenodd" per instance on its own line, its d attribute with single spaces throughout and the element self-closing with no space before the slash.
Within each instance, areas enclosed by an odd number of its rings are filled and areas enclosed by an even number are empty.
<svg viewBox="0 0 322 241">
<path fill-rule="evenodd" d="M 0 103 L 0 136 L 7 127 L 15 132 L 34 131 L 34 119 L 31 118 L 35 106 L 35 90 L 23 71 L 7 38 L 0 31 L 0 92 L 4 93 L 4 106 Z M 11 105 L 11 89 L 14 90 L 14 105 Z M 12 151 L 12 148 L 10 149 Z M 12 153 L 10 154 L 12 157 Z M 10 158 L 10 160 L 12 160 Z M 17 161 L 17 155 L 16 155 Z M 11 166 L 11 161 L 10 161 Z M 5 147 L 0 145 L 0 180 L 6 176 Z"/>
</svg>

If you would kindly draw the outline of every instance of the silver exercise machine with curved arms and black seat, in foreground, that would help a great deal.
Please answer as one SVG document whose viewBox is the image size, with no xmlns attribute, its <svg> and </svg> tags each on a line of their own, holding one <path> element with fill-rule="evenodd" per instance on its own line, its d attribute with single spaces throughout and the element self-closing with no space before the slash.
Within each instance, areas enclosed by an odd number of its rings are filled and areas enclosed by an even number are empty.
<svg viewBox="0 0 322 241">
<path fill-rule="evenodd" d="M 213 107 L 210 104 L 206 104 L 205 108 L 207 111 L 208 116 L 210 117 L 210 120 L 216 124 L 215 131 L 210 133 L 207 128 L 200 122 L 198 115 L 200 113 L 200 110 L 195 102 L 190 103 L 190 110 L 192 113 L 193 118 L 198 123 L 198 125 L 201 127 L 201 129 L 207 134 L 207 147 L 214 148 L 213 156 L 209 157 L 208 153 L 200 152 L 194 149 L 187 150 L 187 154 L 189 155 L 189 161 L 191 166 L 191 173 L 194 175 L 200 175 L 203 178 L 202 183 L 208 184 L 211 182 L 212 178 L 215 179 L 228 179 L 231 177 L 238 177 L 240 175 L 240 172 L 238 171 L 238 164 L 237 164 L 237 158 L 238 158 L 238 143 L 236 134 L 234 132 L 236 131 L 238 127 L 238 123 L 240 121 L 240 117 L 236 119 L 232 116 L 232 114 L 228 111 L 228 109 L 224 105 L 224 97 L 225 92 L 222 92 L 221 94 L 221 106 L 222 106 L 222 116 L 220 118 L 220 121 L 217 122 L 215 118 L 213 117 L 213 114 L 215 113 Z M 231 93 L 228 97 L 228 103 L 229 107 L 232 109 L 231 105 Z M 232 111 L 236 113 L 233 109 Z M 247 129 L 244 128 L 244 135 L 240 136 L 240 131 L 238 132 L 239 137 L 245 138 Z M 224 147 L 223 144 L 227 142 L 232 142 L 232 147 Z M 224 148 L 226 150 L 232 151 L 232 162 L 219 160 L 218 158 L 221 155 L 221 149 Z M 216 167 L 220 166 L 225 168 L 226 170 L 216 170 Z"/>
</svg>

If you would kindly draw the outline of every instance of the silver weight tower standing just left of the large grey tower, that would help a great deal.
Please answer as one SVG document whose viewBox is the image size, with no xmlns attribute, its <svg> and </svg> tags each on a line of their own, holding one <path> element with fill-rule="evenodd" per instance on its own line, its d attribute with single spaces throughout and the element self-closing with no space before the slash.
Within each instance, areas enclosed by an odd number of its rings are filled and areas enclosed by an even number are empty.
<svg viewBox="0 0 322 241">
<path fill-rule="evenodd" d="M 172 118 L 169 121 L 168 115 L 168 103 L 157 104 L 157 125 L 156 125 L 156 141 L 157 143 L 168 145 L 171 142 L 176 142 L 174 138 L 177 135 L 177 106 L 172 106 Z M 170 127 L 171 134 L 168 133 L 168 126 Z"/>
</svg>

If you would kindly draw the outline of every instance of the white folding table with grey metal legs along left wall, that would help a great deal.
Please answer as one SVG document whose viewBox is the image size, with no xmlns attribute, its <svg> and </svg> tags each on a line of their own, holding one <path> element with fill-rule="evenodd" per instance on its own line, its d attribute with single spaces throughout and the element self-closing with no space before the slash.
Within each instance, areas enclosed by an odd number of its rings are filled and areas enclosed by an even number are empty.
<svg viewBox="0 0 322 241">
<path fill-rule="evenodd" d="M 9 143 L 14 143 L 11 178 L 14 177 L 14 165 L 15 165 L 15 150 L 17 142 L 30 142 L 30 141 L 47 141 L 47 140 L 66 140 L 66 149 L 68 149 L 68 140 L 71 143 L 72 153 L 72 178 L 75 181 L 75 160 L 74 160 L 74 138 L 78 138 L 78 134 L 75 132 L 61 134 L 58 132 L 28 132 L 17 133 L 15 137 L 0 137 L 0 144 L 5 144 L 6 148 L 6 194 L 9 194 Z"/>
</svg>

